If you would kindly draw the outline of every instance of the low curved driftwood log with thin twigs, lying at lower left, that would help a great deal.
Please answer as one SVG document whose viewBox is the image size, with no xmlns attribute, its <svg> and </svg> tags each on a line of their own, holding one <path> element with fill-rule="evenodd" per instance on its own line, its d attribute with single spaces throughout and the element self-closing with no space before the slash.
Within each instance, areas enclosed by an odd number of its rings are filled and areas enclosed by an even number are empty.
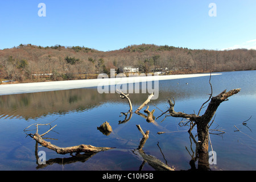
<svg viewBox="0 0 256 182">
<path fill-rule="evenodd" d="M 49 131 L 51 131 L 54 127 L 52 127 L 51 129 L 49 129 L 46 133 L 40 135 L 38 133 L 38 126 L 40 125 L 49 125 L 48 124 L 35 124 L 36 125 L 36 133 L 35 134 L 28 134 L 31 138 L 35 139 L 36 142 L 40 143 L 43 147 L 49 148 L 51 150 L 54 150 L 57 152 L 57 154 L 72 154 L 72 153 L 80 153 L 80 152 L 85 152 L 85 154 L 95 154 L 97 152 L 100 151 L 105 151 L 105 150 L 109 150 L 112 149 L 110 147 L 94 147 L 91 145 L 87 145 L 87 144 L 80 144 L 79 146 L 72 146 L 72 147 L 58 147 L 55 146 L 54 144 L 51 144 L 51 142 L 47 142 L 46 140 L 44 140 L 42 137 L 43 135 L 47 134 Z M 32 125 L 30 125 L 32 126 Z M 28 126 L 28 127 L 30 127 Z M 26 129 L 28 129 L 28 127 Z M 26 130 L 25 129 L 25 130 Z M 24 131 L 25 131 L 24 130 Z"/>
</svg>

